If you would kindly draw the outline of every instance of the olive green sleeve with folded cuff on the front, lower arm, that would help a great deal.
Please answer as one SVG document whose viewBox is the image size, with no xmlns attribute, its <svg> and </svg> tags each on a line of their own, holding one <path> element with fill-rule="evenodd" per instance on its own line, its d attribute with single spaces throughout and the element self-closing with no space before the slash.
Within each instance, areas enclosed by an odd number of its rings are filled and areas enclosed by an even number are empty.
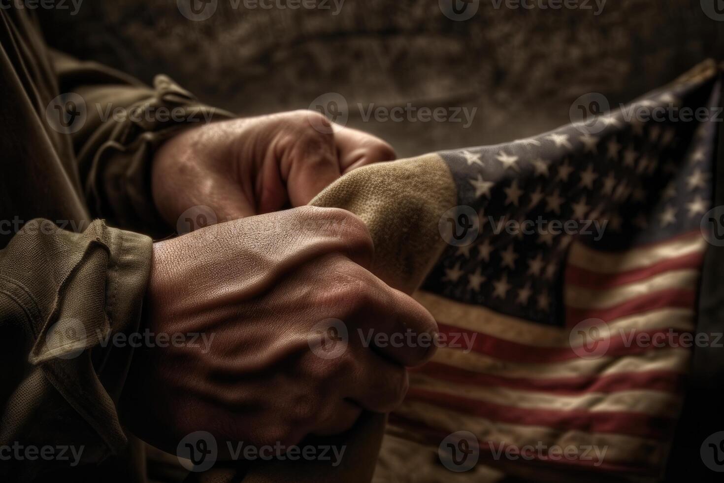
<svg viewBox="0 0 724 483">
<path fill-rule="evenodd" d="M 0 445 L 75 448 L 81 464 L 125 448 L 116 403 L 132 348 L 110 341 L 139 329 L 151 253 L 151 238 L 101 220 L 75 233 L 46 219 L 0 251 Z M 10 458 L 0 480 L 69 463 Z"/>
</svg>

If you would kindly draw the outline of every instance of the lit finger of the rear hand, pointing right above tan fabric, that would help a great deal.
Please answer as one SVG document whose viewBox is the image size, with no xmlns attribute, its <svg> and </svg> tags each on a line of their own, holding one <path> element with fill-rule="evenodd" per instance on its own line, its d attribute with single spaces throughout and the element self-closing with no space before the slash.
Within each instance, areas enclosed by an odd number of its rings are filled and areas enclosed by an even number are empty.
<svg viewBox="0 0 724 483">
<path fill-rule="evenodd" d="M 332 127 L 342 173 L 367 164 L 397 159 L 395 149 L 374 135 L 336 124 Z"/>
</svg>

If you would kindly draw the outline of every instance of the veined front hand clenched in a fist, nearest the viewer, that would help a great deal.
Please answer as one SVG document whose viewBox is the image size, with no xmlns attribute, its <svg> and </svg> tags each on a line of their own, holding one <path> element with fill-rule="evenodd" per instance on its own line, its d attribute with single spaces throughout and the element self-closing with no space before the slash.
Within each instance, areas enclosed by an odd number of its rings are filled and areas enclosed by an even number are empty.
<svg viewBox="0 0 724 483">
<path fill-rule="evenodd" d="M 173 452 L 197 430 L 293 445 L 345 431 L 363 409 L 391 411 L 408 387 L 405 366 L 434 349 L 366 347 L 358 329 L 432 337 L 437 325 L 366 269 L 372 251 L 361 219 L 311 206 L 155 243 L 145 328 L 213 339 L 206 351 L 137 349 L 122 394 L 125 423 Z M 332 357 L 319 352 L 330 349 L 328 326 L 319 325 L 327 319 L 343 321 L 349 334 L 346 345 L 332 340 Z"/>
</svg>

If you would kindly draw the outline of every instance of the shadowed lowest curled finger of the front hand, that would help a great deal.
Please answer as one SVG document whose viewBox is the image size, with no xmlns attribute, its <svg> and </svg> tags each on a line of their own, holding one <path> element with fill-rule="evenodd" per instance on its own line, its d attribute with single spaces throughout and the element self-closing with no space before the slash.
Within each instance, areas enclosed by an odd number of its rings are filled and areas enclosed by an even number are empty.
<svg viewBox="0 0 724 483">
<path fill-rule="evenodd" d="M 347 379 L 347 397 L 376 413 L 389 413 L 400 406 L 410 385 L 407 369 L 370 350 L 360 350 L 355 356 L 359 364 Z"/>
</svg>

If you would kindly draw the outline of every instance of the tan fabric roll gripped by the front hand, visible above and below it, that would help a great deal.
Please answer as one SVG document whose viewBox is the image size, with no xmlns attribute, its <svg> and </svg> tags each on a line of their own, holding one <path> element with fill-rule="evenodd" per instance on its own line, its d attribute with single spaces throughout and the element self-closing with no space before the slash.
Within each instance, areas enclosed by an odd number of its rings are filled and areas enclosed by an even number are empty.
<svg viewBox="0 0 724 483">
<path fill-rule="evenodd" d="M 342 208 L 363 219 L 374 242 L 371 271 L 410 295 L 424 281 L 445 249 L 438 220 L 457 204 L 447 164 L 429 155 L 355 169 L 319 193 L 313 206 Z M 387 416 L 363 413 L 355 427 L 334 436 L 357 458 L 337 468 L 287 463 L 252 468 L 244 482 L 369 482 L 382 445 Z"/>
</svg>

